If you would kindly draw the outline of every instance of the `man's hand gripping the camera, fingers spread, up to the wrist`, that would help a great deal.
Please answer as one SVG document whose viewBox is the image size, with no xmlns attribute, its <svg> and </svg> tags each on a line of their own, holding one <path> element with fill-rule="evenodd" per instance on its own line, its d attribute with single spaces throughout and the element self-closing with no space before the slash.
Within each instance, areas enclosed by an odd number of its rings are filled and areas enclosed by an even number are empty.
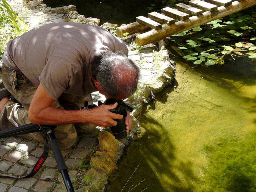
<svg viewBox="0 0 256 192">
<path fill-rule="evenodd" d="M 123 119 L 123 115 L 112 113 L 109 111 L 116 107 L 117 107 L 117 103 L 112 105 L 102 104 L 93 109 L 89 109 L 89 112 L 90 112 L 89 122 L 95 125 L 98 125 L 100 127 L 106 127 L 106 126 L 112 127 L 117 125 L 117 121 L 113 119 Z"/>
</svg>

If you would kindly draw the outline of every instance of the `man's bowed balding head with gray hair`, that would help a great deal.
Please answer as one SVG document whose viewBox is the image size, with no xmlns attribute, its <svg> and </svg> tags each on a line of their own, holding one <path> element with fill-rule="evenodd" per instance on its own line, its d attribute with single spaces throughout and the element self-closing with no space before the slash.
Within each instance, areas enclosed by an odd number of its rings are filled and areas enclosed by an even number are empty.
<svg viewBox="0 0 256 192">
<path fill-rule="evenodd" d="M 137 88 L 139 67 L 122 52 L 102 51 L 92 65 L 92 77 L 110 97 L 130 97 Z"/>
</svg>

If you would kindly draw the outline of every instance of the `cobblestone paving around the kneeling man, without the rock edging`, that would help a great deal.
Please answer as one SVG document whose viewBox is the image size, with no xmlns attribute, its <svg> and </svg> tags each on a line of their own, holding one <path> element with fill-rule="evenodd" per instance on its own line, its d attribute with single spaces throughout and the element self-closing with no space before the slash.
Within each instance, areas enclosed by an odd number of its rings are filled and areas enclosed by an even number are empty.
<svg viewBox="0 0 256 192">
<path fill-rule="evenodd" d="M 64 21 L 63 14 L 44 14 L 24 7 L 20 0 L 8 1 L 12 8 L 26 17 L 34 28 L 43 24 Z M 152 49 L 137 50 L 136 45 L 128 45 L 129 58 L 141 66 L 141 80 L 145 82 L 152 73 Z M 105 100 L 97 92 L 93 97 Z M 96 101 L 95 101 L 96 103 Z M 25 176 L 43 152 L 43 145 L 20 137 L 0 139 L 0 174 Z M 86 185 L 86 167 L 89 157 L 98 147 L 97 132 L 79 135 L 78 141 L 70 149 L 62 151 L 72 183 L 76 188 Z M 32 178 L 0 178 L 0 192 L 65 192 L 67 191 L 51 150 L 40 171 Z M 76 190 L 77 192 L 79 190 Z"/>
</svg>

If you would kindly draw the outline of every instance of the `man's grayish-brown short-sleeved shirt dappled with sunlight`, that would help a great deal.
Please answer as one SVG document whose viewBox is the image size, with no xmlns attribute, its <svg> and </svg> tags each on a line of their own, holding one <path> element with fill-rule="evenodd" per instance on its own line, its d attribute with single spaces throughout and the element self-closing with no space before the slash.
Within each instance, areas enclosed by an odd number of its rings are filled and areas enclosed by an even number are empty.
<svg viewBox="0 0 256 192">
<path fill-rule="evenodd" d="M 90 63 L 102 50 L 128 55 L 125 43 L 102 27 L 50 23 L 9 41 L 3 63 L 21 71 L 36 87 L 41 83 L 57 100 L 63 92 L 86 95 L 96 91 Z"/>
</svg>

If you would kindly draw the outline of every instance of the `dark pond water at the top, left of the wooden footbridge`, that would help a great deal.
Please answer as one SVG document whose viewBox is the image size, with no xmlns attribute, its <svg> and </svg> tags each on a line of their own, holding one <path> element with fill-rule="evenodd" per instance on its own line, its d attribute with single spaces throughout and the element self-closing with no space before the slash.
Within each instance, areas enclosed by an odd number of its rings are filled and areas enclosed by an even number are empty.
<svg viewBox="0 0 256 192">
<path fill-rule="evenodd" d="M 87 17 L 94 17 L 100 19 L 101 24 L 115 23 L 128 24 L 136 21 L 136 17 L 143 15 L 147 17 L 148 8 L 152 3 L 156 4 L 155 0 L 43 0 L 47 6 L 62 7 L 64 5 L 75 5 L 76 11 Z"/>
</svg>

